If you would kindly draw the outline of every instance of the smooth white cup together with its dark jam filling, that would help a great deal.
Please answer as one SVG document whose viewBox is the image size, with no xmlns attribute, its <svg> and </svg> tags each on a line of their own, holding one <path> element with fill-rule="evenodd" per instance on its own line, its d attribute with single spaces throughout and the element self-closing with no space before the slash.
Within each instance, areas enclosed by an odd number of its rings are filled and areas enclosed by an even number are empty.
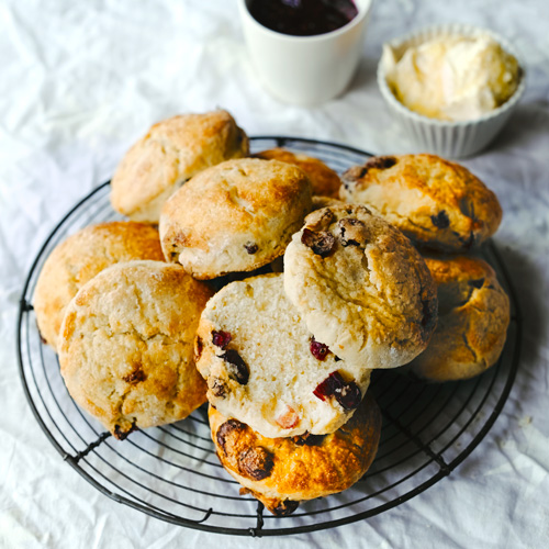
<svg viewBox="0 0 549 549">
<path fill-rule="evenodd" d="M 349 85 L 371 0 L 238 0 L 255 74 L 287 103 L 313 107 Z"/>
</svg>

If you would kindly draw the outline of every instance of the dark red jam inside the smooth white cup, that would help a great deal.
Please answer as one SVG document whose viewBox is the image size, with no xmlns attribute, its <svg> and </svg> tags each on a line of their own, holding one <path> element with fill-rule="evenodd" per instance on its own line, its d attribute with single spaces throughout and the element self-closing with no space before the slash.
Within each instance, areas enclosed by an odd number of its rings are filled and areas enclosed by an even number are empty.
<svg viewBox="0 0 549 549">
<path fill-rule="evenodd" d="M 292 36 L 329 33 L 358 14 L 352 0 L 250 0 L 248 10 L 267 29 Z"/>
</svg>

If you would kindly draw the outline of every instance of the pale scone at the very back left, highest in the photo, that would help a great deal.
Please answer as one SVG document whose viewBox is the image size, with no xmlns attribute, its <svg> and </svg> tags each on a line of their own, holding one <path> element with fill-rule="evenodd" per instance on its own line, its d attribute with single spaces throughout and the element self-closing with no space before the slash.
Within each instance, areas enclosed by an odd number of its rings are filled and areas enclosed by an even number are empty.
<svg viewBox="0 0 549 549">
<path fill-rule="evenodd" d="M 112 206 L 132 220 L 158 223 L 164 202 L 189 178 L 248 150 L 246 134 L 226 111 L 158 122 L 116 168 Z"/>
</svg>

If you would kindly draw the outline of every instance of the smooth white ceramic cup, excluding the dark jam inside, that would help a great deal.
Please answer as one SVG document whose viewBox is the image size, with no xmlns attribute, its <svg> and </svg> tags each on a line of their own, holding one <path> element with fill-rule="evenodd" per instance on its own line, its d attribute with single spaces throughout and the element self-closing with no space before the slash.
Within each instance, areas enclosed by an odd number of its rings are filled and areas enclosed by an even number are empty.
<svg viewBox="0 0 549 549">
<path fill-rule="evenodd" d="M 314 36 L 271 31 L 238 0 L 251 64 L 267 90 L 287 103 L 321 104 L 339 96 L 358 66 L 372 0 L 355 0 L 358 14 L 345 26 Z"/>
</svg>

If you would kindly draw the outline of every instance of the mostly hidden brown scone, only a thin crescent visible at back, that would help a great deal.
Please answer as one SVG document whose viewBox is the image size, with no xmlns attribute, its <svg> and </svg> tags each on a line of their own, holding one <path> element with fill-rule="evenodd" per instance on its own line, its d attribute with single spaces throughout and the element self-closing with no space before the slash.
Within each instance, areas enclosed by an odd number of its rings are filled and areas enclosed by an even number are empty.
<svg viewBox="0 0 549 549">
<path fill-rule="evenodd" d="M 302 153 L 292 153 L 280 147 L 261 150 L 261 153 L 255 154 L 254 157 L 264 158 L 265 160 L 280 160 L 298 166 L 311 179 L 313 197 L 330 197 L 334 199 L 339 197 L 339 187 L 341 186 L 339 176 L 318 158 Z"/>
</svg>

